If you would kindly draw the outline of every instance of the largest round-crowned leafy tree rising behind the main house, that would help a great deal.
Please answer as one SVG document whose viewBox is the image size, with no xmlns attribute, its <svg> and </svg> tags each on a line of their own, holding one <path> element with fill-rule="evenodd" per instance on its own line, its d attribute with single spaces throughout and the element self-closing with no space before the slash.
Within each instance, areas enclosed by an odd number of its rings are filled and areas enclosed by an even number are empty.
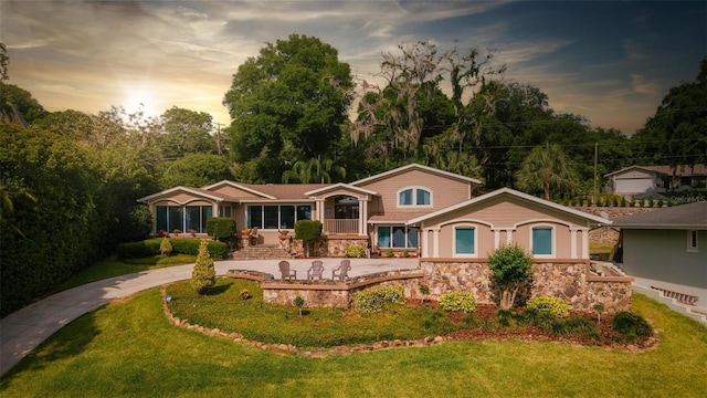
<svg viewBox="0 0 707 398">
<path fill-rule="evenodd" d="M 254 163 L 270 182 L 287 164 L 326 155 L 341 136 L 351 101 L 350 67 L 317 38 L 267 43 L 233 75 L 223 104 L 236 163 Z M 296 148 L 296 157 L 287 148 Z"/>
</svg>

